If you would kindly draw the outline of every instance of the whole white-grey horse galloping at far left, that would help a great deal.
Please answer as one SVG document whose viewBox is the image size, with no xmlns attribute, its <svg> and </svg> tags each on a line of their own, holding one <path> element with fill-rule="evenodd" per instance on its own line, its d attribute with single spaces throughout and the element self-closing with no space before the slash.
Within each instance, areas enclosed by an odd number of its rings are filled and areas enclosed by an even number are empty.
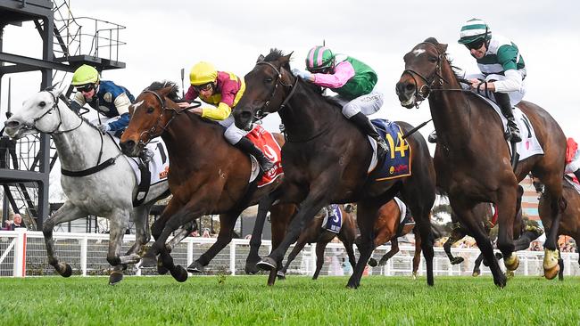
<svg viewBox="0 0 580 326">
<path fill-rule="evenodd" d="M 69 109 L 62 95 L 65 89 L 62 86 L 30 97 L 4 123 L 5 133 L 14 139 L 37 132 L 50 134 L 61 160 L 62 190 L 68 200 L 43 225 L 48 263 L 64 277 L 72 273 L 69 264 L 59 262 L 54 250 L 55 225 L 87 215 L 104 216 L 111 222 L 107 261 L 113 266 L 109 283 L 115 284 L 122 280 L 127 264 L 140 260 L 138 253 L 151 238 L 149 211 L 156 200 L 169 194 L 169 186 L 167 180 L 152 184 L 143 204 L 133 208 L 138 184 L 128 158 L 121 154 L 112 137 L 101 134 Z M 135 222 L 136 241 L 125 256 L 120 256 L 129 217 Z"/>
</svg>

